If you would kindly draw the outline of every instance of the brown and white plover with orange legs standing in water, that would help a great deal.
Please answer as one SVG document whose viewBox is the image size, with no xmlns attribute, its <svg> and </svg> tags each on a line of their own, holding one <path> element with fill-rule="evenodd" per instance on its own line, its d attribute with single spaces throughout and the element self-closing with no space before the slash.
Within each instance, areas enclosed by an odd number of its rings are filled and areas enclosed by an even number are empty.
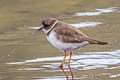
<svg viewBox="0 0 120 80">
<path fill-rule="evenodd" d="M 64 58 L 59 65 L 61 68 L 65 62 L 67 51 L 70 52 L 70 57 L 67 62 L 67 65 L 70 66 L 73 50 L 80 49 L 89 44 L 108 44 L 108 42 L 90 38 L 82 31 L 75 28 L 75 26 L 63 21 L 58 21 L 56 18 L 52 17 L 47 17 L 42 21 L 38 31 L 40 30 L 45 33 L 47 40 L 54 47 L 64 52 Z"/>
</svg>

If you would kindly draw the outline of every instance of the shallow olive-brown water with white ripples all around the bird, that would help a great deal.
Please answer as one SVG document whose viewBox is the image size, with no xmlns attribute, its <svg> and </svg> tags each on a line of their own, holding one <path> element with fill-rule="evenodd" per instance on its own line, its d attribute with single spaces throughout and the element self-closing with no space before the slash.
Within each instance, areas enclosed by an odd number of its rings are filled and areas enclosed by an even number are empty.
<svg viewBox="0 0 120 80">
<path fill-rule="evenodd" d="M 119 0 L 1 0 L 0 80 L 120 80 Z M 58 65 L 63 53 L 42 31 L 46 17 L 55 17 L 109 45 L 74 51 L 70 67 Z"/>
</svg>

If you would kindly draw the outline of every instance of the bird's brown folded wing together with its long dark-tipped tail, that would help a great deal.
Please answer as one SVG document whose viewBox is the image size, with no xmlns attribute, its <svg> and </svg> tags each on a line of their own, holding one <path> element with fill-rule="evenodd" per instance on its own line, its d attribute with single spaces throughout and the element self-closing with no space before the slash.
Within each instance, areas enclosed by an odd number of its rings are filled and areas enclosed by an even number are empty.
<svg viewBox="0 0 120 80">
<path fill-rule="evenodd" d="M 108 44 L 107 42 L 102 42 L 102 41 L 89 38 L 87 35 L 82 33 L 77 28 L 73 27 L 72 25 L 64 24 L 64 26 L 61 25 L 61 27 L 64 27 L 64 28 L 56 27 L 59 29 L 56 29 L 55 32 L 58 33 L 57 38 L 63 42 L 81 43 L 84 41 L 88 41 L 90 44 L 101 44 L 101 45 Z"/>
</svg>

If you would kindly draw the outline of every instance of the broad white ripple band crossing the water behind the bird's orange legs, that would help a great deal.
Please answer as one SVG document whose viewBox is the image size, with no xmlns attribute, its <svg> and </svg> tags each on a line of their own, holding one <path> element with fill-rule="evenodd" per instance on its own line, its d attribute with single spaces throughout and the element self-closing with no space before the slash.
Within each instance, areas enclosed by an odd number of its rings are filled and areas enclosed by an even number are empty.
<svg viewBox="0 0 120 80">
<path fill-rule="evenodd" d="M 68 58 L 69 57 L 67 56 L 66 59 Z M 62 59 L 63 57 L 36 58 L 32 60 L 25 60 L 24 62 L 10 62 L 7 64 L 20 65 L 20 64 L 34 63 L 34 62 L 44 62 L 42 67 L 57 68 Z M 120 50 L 111 51 L 111 52 L 87 52 L 83 55 L 73 55 L 71 60 L 71 68 L 79 69 L 79 70 L 90 70 L 96 68 L 113 69 L 116 67 L 109 67 L 109 65 L 116 65 L 116 64 L 120 64 Z M 117 68 L 120 68 L 120 66 L 117 66 Z"/>
</svg>

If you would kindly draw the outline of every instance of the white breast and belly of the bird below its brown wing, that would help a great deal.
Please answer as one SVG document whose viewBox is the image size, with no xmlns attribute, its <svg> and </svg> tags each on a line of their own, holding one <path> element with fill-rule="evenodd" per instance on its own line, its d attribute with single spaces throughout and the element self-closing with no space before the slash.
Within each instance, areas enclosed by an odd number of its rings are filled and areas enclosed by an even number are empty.
<svg viewBox="0 0 120 80">
<path fill-rule="evenodd" d="M 84 41 L 82 43 L 63 43 L 62 41 L 58 40 L 55 35 L 56 33 L 52 31 L 47 39 L 54 47 L 58 48 L 60 51 L 75 50 L 89 44 L 88 41 Z"/>
</svg>

